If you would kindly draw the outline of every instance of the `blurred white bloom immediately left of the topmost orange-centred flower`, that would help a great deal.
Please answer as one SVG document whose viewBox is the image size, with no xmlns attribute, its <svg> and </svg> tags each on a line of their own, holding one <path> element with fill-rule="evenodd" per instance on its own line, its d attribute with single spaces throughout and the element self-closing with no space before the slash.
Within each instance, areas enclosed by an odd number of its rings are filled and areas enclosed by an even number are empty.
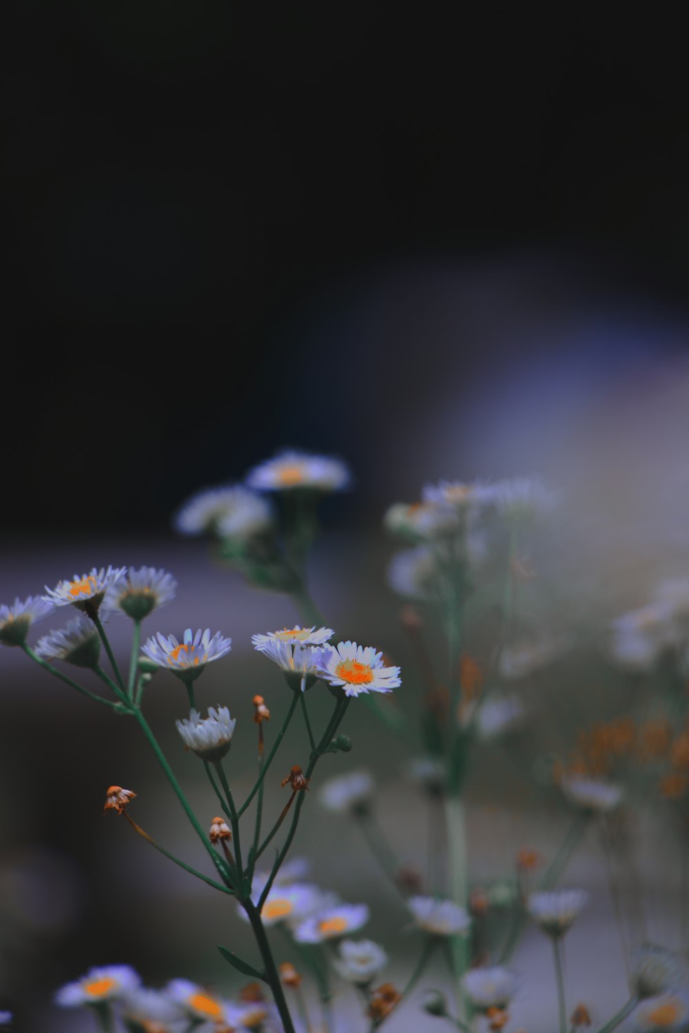
<svg viewBox="0 0 689 1033">
<path fill-rule="evenodd" d="M 193 495 L 174 518 L 181 534 L 212 531 L 224 538 L 252 538 L 273 525 L 273 510 L 244 484 L 209 488 Z"/>
</svg>

